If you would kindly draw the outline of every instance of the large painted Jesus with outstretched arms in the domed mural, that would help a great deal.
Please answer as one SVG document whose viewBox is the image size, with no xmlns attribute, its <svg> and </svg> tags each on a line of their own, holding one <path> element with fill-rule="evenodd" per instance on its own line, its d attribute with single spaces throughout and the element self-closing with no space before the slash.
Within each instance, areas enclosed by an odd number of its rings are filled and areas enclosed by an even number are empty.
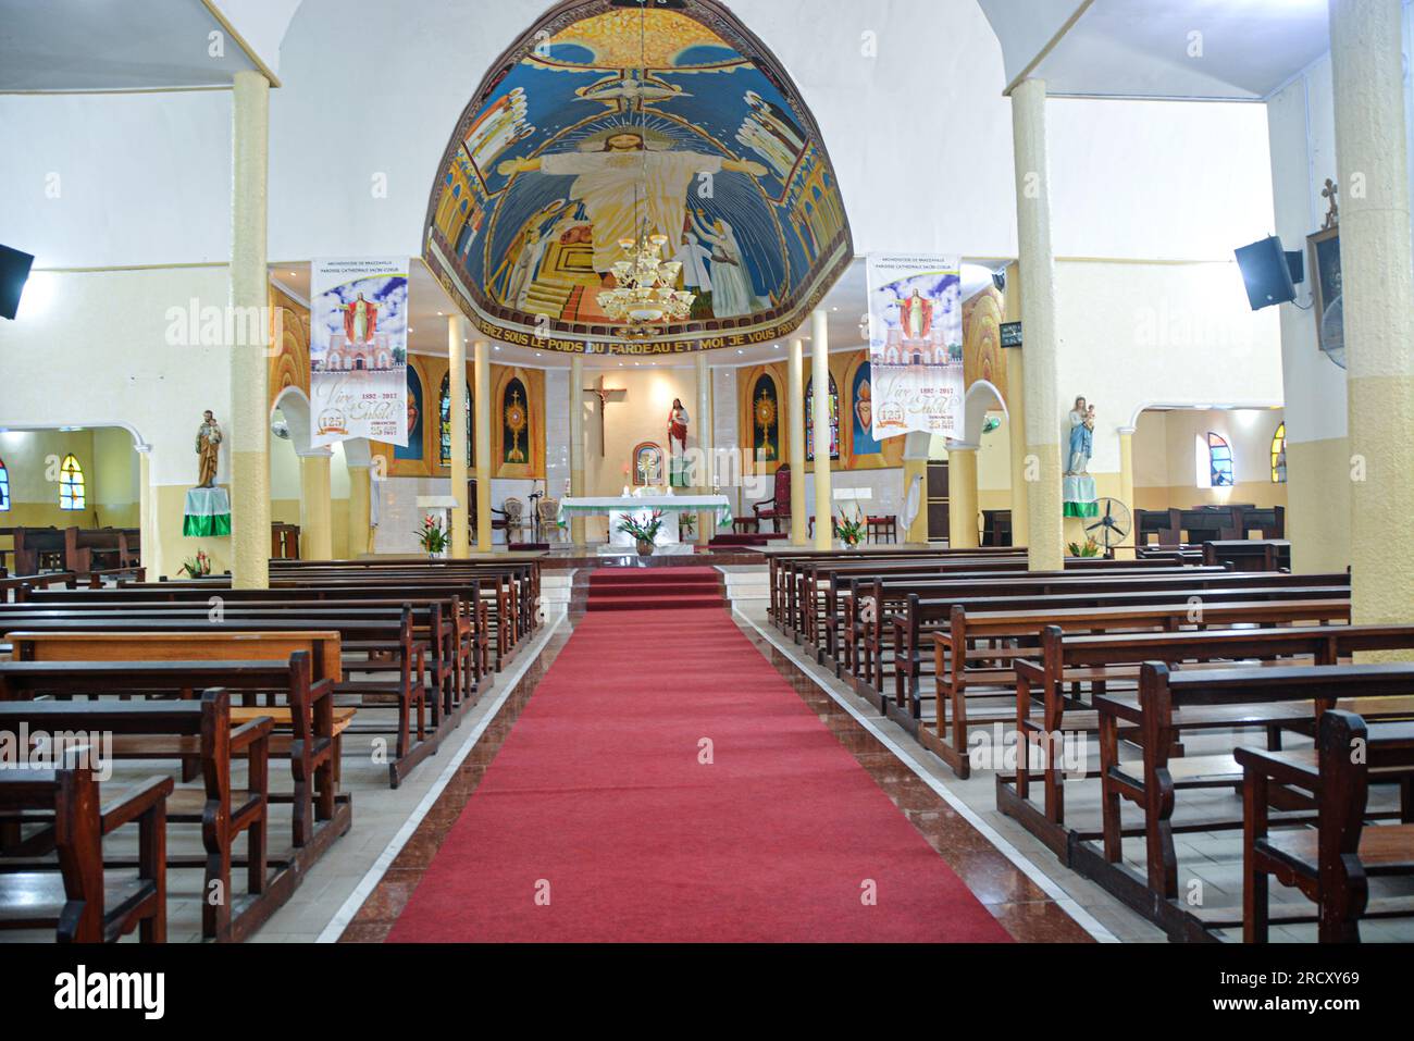
<svg viewBox="0 0 1414 1041">
<path fill-rule="evenodd" d="M 608 276 L 624 257 L 619 242 L 638 239 L 639 219 L 648 223 L 649 235 L 680 238 L 693 178 L 723 170 L 752 177 L 766 173 L 759 163 L 696 151 L 653 151 L 636 130 L 605 139 L 601 151 L 563 151 L 508 160 L 498 167 L 503 177 L 536 171 L 574 177 L 570 195 L 584 204 L 594 223 L 594 270 L 601 276 Z"/>
</svg>

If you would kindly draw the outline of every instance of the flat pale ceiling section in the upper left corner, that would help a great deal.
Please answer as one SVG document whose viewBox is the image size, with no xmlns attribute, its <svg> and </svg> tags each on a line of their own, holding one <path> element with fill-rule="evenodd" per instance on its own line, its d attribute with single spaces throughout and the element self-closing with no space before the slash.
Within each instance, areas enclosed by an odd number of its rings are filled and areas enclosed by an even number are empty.
<svg viewBox="0 0 1414 1041">
<path fill-rule="evenodd" d="M 255 68 L 202 0 L 0 0 L 4 92 L 230 86 Z"/>
</svg>

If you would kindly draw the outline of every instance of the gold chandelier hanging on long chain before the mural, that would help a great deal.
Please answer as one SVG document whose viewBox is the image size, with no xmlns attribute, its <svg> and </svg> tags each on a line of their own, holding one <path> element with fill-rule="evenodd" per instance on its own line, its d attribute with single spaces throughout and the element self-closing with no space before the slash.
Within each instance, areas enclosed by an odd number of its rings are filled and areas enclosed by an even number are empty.
<svg viewBox="0 0 1414 1041">
<path fill-rule="evenodd" d="M 641 75 L 648 78 L 646 7 L 639 8 L 639 65 Z M 642 103 L 639 110 L 643 112 Z M 648 192 L 648 113 L 643 112 L 643 173 L 642 188 Z M 614 289 L 598 296 L 600 310 L 625 328 L 621 334 L 642 338 L 660 325 L 672 321 L 686 321 L 691 315 L 696 293 L 677 289 L 677 276 L 683 266 L 676 260 L 663 260 L 663 246 L 667 236 L 653 232 L 646 218 L 639 218 L 639 191 L 633 190 L 633 216 L 636 236 L 619 239 L 624 259 L 614 264 Z"/>
</svg>

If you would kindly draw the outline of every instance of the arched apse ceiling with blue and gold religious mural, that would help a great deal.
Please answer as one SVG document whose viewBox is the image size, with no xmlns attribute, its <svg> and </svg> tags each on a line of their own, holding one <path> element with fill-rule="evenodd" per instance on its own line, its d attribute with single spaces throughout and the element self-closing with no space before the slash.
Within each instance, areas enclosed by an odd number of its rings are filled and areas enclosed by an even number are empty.
<svg viewBox="0 0 1414 1041">
<path fill-rule="evenodd" d="M 645 223 L 697 301 L 686 321 L 626 339 L 598 294 L 619 240 Z M 553 7 L 458 120 L 424 243 L 484 334 L 566 352 L 786 335 L 853 256 L 814 119 L 715 0 Z"/>
</svg>

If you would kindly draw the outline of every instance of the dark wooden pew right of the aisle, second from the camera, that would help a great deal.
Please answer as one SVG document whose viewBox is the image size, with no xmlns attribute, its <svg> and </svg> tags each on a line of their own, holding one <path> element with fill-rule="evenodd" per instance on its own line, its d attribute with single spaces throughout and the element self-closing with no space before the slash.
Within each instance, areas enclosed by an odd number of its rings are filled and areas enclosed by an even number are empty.
<svg viewBox="0 0 1414 1041">
<path fill-rule="evenodd" d="M 1181 733 L 1233 728 L 1309 727 L 1329 709 L 1350 709 L 1369 719 L 1414 716 L 1414 666 L 1311 665 L 1291 668 L 1191 669 L 1172 672 L 1162 662 L 1140 670 L 1137 694 L 1094 699 L 1100 723 L 1103 853 L 1077 843 L 1072 867 L 1094 878 L 1171 935 L 1205 935 L 1223 925 L 1210 914 L 1191 914 L 1178 904 L 1178 854 L 1174 833 L 1176 795 L 1199 788 L 1237 788 L 1241 767 L 1232 754 L 1175 757 Z M 1120 758 L 1120 726 L 1134 727 L 1141 760 Z M 1407 788 L 1407 785 L 1406 785 Z M 1144 813 L 1147 876 L 1121 861 L 1120 802 Z M 1282 816 L 1281 823 L 1311 820 Z M 1408 806 L 1404 808 L 1408 812 Z M 1185 825 L 1205 832 L 1237 827 L 1241 820 L 1206 819 Z"/>
</svg>

